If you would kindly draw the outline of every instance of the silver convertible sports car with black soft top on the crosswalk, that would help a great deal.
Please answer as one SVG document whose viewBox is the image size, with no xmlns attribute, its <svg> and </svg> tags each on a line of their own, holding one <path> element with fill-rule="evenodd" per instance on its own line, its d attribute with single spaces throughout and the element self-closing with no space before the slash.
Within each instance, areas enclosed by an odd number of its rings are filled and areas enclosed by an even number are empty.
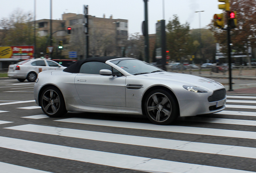
<svg viewBox="0 0 256 173">
<path fill-rule="evenodd" d="M 63 71 L 40 72 L 34 97 L 49 117 L 67 111 L 136 114 L 166 125 L 178 116 L 222 111 L 226 90 L 211 79 L 104 56 L 80 60 Z"/>
</svg>

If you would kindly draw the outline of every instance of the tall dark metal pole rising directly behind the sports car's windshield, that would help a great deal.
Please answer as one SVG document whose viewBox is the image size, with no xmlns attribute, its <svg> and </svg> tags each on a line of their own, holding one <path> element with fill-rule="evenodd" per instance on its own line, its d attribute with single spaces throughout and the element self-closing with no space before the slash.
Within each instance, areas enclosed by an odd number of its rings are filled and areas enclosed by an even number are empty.
<svg viewBox="0 0 256 173">
<path fill-rule="evenodd" d="M 149 62 L 148 0 L 145 2 L 145 61 Z"/>
</svg>

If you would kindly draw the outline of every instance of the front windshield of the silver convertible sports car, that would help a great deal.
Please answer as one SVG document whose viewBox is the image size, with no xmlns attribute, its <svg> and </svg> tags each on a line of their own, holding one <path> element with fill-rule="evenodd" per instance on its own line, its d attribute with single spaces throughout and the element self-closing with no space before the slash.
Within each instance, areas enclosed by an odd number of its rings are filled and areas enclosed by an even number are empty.
<svg viewBox="0 0 256 173">
<path fill-rule="evenodd" d="M 136 59 L 112 60 L 111 62 L 133 75 L 163 71 L 156 66 Z"/>
</svg>

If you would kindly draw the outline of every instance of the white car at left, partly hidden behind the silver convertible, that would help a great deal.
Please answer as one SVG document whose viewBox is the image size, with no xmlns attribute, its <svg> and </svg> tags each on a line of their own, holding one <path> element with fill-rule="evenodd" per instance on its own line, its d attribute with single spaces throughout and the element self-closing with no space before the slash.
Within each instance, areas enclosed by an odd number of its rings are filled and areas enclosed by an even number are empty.
<svg viewBox="0 0 256 173">
<path fill-rule="evenodd" d="M 28 80 L 34 82 L 37 79 L 39 72 L 47 70 L 64 70 L 66 67 L 54 62 L 52 60 L 45 59 L 32 59 L 18 62 L 17 64 L 11 64 L 8 68 L 8 77 L 16 78 L 20 82 Z"/>
</svg>

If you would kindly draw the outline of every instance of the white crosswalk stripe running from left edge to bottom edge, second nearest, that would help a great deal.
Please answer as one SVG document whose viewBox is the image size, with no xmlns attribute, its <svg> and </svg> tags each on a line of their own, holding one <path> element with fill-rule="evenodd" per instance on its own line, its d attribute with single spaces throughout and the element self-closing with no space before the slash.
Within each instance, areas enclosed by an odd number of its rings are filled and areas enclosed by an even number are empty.
<svg viewBox="0 0 256 173">
<path fill-rule="evenodd" d="M 196 169 L 196 173 L 253 173 L 250 171 L 242 171 L 237 169 L 227 169 L 206 165 L 166 161 L 147 157 L 107 153 L 102 151 L 79 149 L 62 145 L 39 143 L 35 141 L 27 141 L 8 137 L 0 137 L 0 141 L 0 147 L 6 149 L 13 149 L 38 155 L 58 157 L 62 159 L 70 159 L 75 161 L 82 161 L 87 163 L 94 163 L 99 165 L 106 165 L 138 171 L 189 173 L 191 172 L 191 170 L 194 171 Z"/>
</svg>

